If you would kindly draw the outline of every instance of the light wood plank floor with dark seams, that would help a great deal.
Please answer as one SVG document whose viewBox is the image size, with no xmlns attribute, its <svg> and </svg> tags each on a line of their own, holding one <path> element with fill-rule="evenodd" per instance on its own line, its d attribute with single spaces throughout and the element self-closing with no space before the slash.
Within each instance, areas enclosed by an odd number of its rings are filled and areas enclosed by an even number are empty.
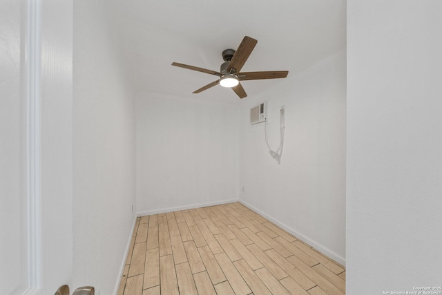
<svg viewBox="0 0 442 295">
<path fill-rule="evenodd" d="M 345 268 L 239 202 L 137 218 L 118 295 L 345 294 Z"/>
</svg>

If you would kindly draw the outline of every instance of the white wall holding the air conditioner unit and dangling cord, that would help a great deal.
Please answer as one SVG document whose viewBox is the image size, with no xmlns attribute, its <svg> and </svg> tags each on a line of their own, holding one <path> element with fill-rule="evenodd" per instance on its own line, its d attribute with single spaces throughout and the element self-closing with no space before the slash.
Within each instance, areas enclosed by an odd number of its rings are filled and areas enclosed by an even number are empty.
<svg viewBox="0 0 442 295">
<path fill-rule="evenodd" d="M 247 97 L 241 111 L 240 200 L 309 245 L 345 264 L 345 50 L 319 61 L 262 97 Z M 279 144 L 285 106 L 285 145 L 280 164 L 269 155 L 264 124 L 251 126 L 250 108 L 269 104 L 271 149 Z"/>
</svg>

